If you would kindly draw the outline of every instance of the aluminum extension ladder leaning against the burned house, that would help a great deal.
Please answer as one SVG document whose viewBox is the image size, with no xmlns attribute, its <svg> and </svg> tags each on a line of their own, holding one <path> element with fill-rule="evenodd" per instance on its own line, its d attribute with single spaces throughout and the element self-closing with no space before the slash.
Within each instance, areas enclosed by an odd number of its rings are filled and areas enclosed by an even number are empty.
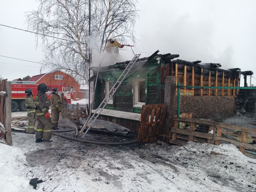
<svg viewBox="0 0 256 192">
<path fill-rule="evenodd" d="M 98 106 L 97 109 L 95 109 L 93 115 L 90 117 L 89 121 L 87 124 L 91 123 L 86 132 L 83 134 L 82 138 L 84 135 L 89 131 L 89 129 L 93 126 L 95 120 L 98 118 L 98 116 L 101 114 L 102 110 L 105 108 L 105 106 L 108 104 L 110 98 L 113 97 L 114 93 L 118 89 L 118 87 L 121 85 L 121 83 L 124 81 L 125 77 L 133 67 L 133 65 L 136 63 L 136 61 L 139 59 L 140 54 L 135 54 L 132 60 L 129 62 L 127 67 L 124 69 L 123 73 L 120 75 L 120 77 L 117 79 L 116 83 L 113 85 L 113 87 L 110 89 L 109 93 L 106 95 L 106 97 L 103 99 L 101 104 Z M 98 112 L 98 114 L 97 114 Z"/>
</svg>

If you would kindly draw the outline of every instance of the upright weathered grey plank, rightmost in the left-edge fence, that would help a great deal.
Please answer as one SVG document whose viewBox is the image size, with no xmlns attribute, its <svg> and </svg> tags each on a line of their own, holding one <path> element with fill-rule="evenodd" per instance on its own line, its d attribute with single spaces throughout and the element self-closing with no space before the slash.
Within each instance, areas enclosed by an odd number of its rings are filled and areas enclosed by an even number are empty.
<svg viewBox="0 0 256 192">
<path fill-rule="evenodd" d="M 6 141 L 8 145 L 12 145 L 12 128 L 11 128 L 11 118 L 12 118 L 12 87 L 11 82 L 6 82 L 6 93 L 7 97 L 5 100 L 5 106 L 6 106 L 6 117 L 5 117 L 5 129 L 7 130 L 6 133 Z"/>
</svg>

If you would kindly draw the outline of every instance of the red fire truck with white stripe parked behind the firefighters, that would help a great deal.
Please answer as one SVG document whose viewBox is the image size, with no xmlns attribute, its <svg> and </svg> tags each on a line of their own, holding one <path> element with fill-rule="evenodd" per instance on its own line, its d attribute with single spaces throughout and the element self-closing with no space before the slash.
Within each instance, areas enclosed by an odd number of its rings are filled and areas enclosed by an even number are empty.
<svg viewBox="0 0 256 192">
<path fill-rule="evenodd" d="M 27 111 L 27 107 L 25 105 L 26 100 L 26 89 L 32 89 L 32 93 L 34 98 L 37 96 L 37 85 L 34 81 L 11 81 L 12 83 L 12 112 L 17 111 L 18 109 L 20 111 Z M 51 98 L 52 89 L 53 87 L 58 87 L 59 92 L 58 94 L 64 93 L 64 103 L 65 105 L 71 103 L 72 99 L 72 92 L 71 87 L 67 87 L 64 85 L 56 85 L 56 84 L 47 84 L 48 91 L 46 92 L 46 95 L 48 99 Z"/>
</svg>

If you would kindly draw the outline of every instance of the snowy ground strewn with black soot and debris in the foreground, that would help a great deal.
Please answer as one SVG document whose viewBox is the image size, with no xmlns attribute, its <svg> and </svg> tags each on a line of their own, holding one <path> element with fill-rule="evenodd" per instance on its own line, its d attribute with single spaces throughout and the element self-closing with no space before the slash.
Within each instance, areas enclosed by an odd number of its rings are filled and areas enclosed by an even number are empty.
<svg viewBox="0 0 256 192">
<path fill-rule="evenodd" d="M 16 112 L 18 113 L 18 112 Z M 23 115 L 22 115 L 23 116 Z M 0 144 L 3 192 L 34 191 L 255 191 L 256 159 L 231 144 L 165 143 L 99 146 L 53 136 L 13 133 L 14 146 Z M 107 137 L 107 136 L 106 136 Z M 223 155 L 213 155 L 211 152 Z"/>
</svg>

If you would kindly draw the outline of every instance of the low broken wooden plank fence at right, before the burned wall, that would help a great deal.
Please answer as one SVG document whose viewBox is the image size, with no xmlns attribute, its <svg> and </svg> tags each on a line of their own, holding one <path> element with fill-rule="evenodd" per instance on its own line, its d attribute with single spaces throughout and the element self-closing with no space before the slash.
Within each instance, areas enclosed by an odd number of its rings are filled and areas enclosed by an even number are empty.
<svg viewBox="0 0 256 192">
<path fill-rule="evenodd" d="M 178 129 L 180 123 L 187 123 L 189 125 L 189 130 Z M 195 131 L 196 125 L 203 125 L 208 127 L 208 132 Z M 248 154 L 245 152 L 245 148 L 256 150 L 256 145 L 246 143 L 246 139 L 256 140 L 248 134 L 255 134 L 256 129 L 241 127 L 233 124 L 220 123 L 210 120 L 201 120 L 196 118 L 182 118 L 173 117 L 173 127 L 170 128 L 170 143 L 173 144 L 185 144 L 187 141 L 210 143 L 215 145 L 221 144 L 221 141 L 233 143 L 240 147 L 240 151 L 243 154 Z M 231 131 L 223 131 L 222 128 L 229 129 Z M 236 131 L 236 133 L 233 133 Z M 222 136 L 222 133 L 226 135 L 235 136 L 237 140 L 228 139 Z M 248 154 L 249 155 L 249 154 Z"/>
</svg>

